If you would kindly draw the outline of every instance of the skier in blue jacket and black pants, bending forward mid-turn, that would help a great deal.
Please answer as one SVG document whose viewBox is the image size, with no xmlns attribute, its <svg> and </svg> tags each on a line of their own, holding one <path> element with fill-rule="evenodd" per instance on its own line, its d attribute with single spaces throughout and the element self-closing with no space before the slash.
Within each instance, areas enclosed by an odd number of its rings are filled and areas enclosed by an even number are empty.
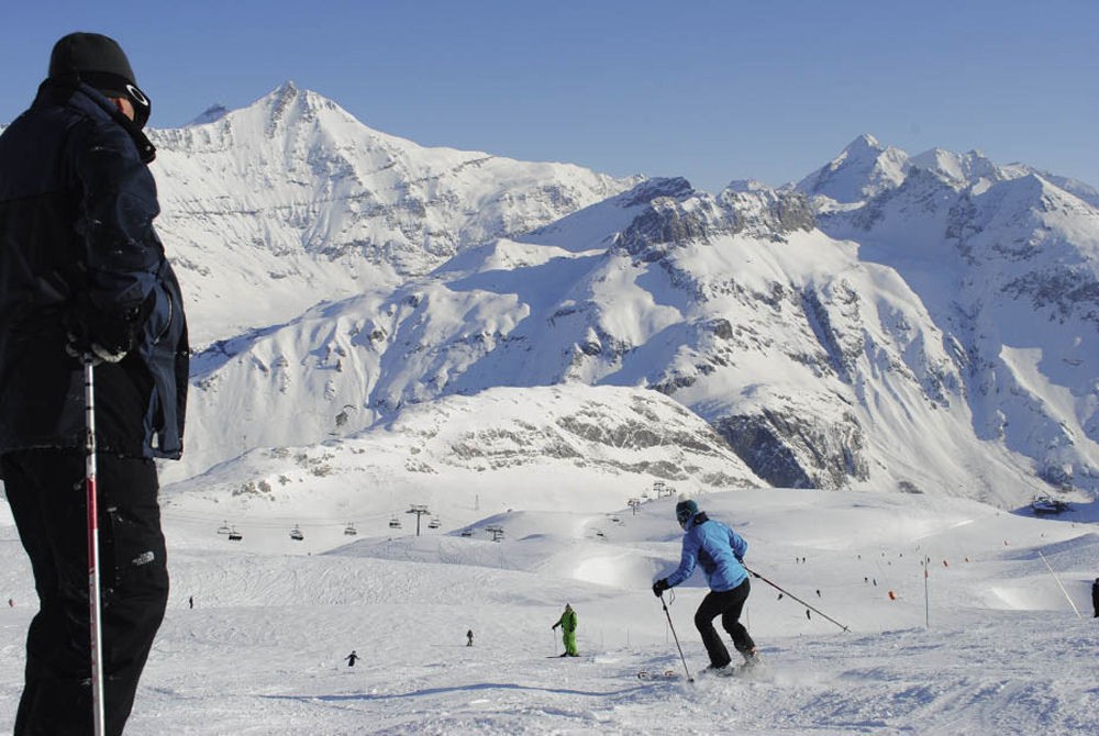
<svg viewBox="0 0 1099 736">
<path fill-rule="evenodd" d="M 742 564 L 747 543 L 725 524 L 699 511 L 698 504 L 691 500 L 676 504 L 676 520 L 686 532 L 679 568 L 667 578 L 655 581 L 653 593 L 662 596 L 664 591 L 690 578 L 695 566 L 701 564 L 710 592 L 695 612 L 695 626 L 710 655 L 710 669 L 722 670 L 732 661 L 729 649 L 713 628 L 713 620 L 719 615 L 722 627 L 733 637 L 733 646 L 744 657 L 744 666 L 756 665 L 755 642 L 740 623 L 741 611 L 751 590 L 748 573 Z"/>
</svg>

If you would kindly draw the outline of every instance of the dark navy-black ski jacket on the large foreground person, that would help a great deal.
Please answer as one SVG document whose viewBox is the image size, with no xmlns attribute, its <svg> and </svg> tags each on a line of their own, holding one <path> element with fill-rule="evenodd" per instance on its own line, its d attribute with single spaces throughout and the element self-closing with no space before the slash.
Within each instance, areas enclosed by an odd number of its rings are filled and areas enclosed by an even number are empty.
<svg viewBox="0 0 1099 736">
<path fill-rule="evenodd" d="M 188 344 L 153 228 L 155 148 L 91 87 L 47 79 L 0 135 L 0 454 L 84 447 L 81 361 L 66 325 L 132 320 L 133 349 L 95 370 L 99 449 L 178 458 Z"/>
</svg>

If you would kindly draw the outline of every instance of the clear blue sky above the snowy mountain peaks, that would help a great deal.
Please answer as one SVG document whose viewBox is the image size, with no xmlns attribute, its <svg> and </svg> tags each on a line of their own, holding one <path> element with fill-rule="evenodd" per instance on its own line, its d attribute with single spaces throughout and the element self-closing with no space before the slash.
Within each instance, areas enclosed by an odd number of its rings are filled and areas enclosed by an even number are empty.
<svg viewBox="0 0 1099 736">
<path fill-rule="evenodd" d="M 423 145 L 797 180 L 861 133 L 1099 187 L 1096 0 L 12 0 L 0 123 L 53 43 L 119 40 L 156 127 L 292 79 Z"/>
</svg>

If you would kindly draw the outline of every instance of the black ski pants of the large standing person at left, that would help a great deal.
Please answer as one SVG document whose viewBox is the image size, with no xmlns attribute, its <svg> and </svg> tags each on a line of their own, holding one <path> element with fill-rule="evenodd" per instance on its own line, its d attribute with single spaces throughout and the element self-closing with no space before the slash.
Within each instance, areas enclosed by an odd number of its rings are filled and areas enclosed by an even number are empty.
<svg viewBox="0 0 1099 736">
<path fill-rule="evenodd" d="M 164 618 L 168 571 L 153 460 L 97 454 L 103 690 L 107 733 L 122 734 Z M 85 457 L 14 450 L 4 490 L 31 558 L 38 613 L 26 636 L 14 736 L 93 733 Z"/>
</svg>

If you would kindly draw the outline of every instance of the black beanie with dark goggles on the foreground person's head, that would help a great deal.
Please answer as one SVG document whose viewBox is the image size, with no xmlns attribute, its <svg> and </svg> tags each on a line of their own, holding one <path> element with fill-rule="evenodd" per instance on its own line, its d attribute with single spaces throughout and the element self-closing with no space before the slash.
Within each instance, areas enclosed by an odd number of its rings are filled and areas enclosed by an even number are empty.
<svg viewBox="0 0 1099 736">
<path fill-rule="evenodd" d="M 137 88 L 137 79 L 122 47 L 98 33 L 70 33 L 54 44 L 49 54 L 52 78 L 75 76 L 108 97 L 127 98 L 134 105 L 134 122 L 144 127 L 152 104 Z"/>
</svg>

